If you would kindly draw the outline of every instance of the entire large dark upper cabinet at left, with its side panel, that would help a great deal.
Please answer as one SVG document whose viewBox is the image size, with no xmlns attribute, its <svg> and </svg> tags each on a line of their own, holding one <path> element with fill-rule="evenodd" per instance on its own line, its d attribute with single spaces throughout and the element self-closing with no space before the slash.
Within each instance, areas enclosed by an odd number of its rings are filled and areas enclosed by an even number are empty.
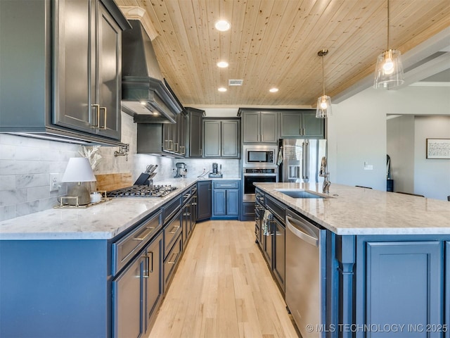
<svg viewBox="0 0 450 338">
<path fill-rule="evenodd" d="M 0 131 L 117 144 L 121 35 L 129 24 L 115 3 L 0 1 L 0 11 L 8 13 L 0 23 L 8 82 Z"/>
</svg>

